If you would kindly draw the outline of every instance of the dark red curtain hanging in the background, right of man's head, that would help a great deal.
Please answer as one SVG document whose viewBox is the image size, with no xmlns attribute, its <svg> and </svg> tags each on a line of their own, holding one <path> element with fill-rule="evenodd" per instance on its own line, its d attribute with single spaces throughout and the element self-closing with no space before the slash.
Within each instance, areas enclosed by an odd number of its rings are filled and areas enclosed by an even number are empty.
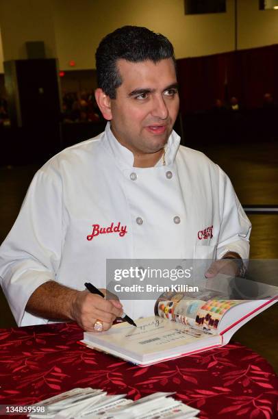
<svg viewBox="0 0 278 419">
<path fill-rule="evenodd" d="M 177 60 L 181 112 L 210 110 L 216 99 L 238 97 L 260 107 L 264 93 L 278 101 L 278 45 Z"/>
</svg>

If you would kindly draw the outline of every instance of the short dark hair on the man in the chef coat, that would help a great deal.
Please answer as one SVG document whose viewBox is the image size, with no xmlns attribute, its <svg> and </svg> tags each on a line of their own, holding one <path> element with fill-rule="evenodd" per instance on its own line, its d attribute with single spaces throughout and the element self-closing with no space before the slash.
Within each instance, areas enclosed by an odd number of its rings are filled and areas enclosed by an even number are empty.
<svg viewBox="0 0 278 419">
<path fill-rule="evenodd" d="M 123 26 L 101 40 L 96 52 L 97 81 L 99 88 L 111 99 L 116 99 L 116 89 L 123 80 L 117 60 L 159 62 L 172 58 L 175 64 L 173 45 L 161 34 L 147 27 Z"/>
</svg>

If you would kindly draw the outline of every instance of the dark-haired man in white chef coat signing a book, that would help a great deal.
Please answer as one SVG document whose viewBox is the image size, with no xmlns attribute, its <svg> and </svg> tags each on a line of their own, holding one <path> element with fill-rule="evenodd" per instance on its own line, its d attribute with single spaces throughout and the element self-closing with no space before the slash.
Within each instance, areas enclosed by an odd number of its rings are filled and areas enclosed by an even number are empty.
<svg viewBox="0 0 278 419">
<path fill-rule="evenodd" d="M 249 254 L 251 226 L 229 179 L 202 153 L 179 147 L 173 131 L 170 42 L 127 26 L 103 38 L 96 58 L 105 132 L 38 170 L 1 247 L 1 285 L 18 325 L 71 319 L 88 331 L 99 322 L 109 329 L 121 303 L 84 290 L 85 282 L 105 286 L 106 259 Z M 133 318 L 148 310 L 125 303 Z"/>
</svg>

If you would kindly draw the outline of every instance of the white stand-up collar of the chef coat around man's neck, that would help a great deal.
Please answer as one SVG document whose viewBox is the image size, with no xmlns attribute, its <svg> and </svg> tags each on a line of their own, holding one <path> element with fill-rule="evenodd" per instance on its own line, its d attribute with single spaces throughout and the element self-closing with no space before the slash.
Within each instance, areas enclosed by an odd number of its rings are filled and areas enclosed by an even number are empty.
<svg viewBox="0 0 278 419">
<path fill-rule="evenodd" d="M 179 149 L 179 142 L 181 138 L 173 130 L 165 145 L 165 162 L 166 166 L 170 166 L 175 162 L 177 150 Z M 134 154 L 124 147 L 115 138 L 110 128 L 110 122 L 105 127 L 105 136 L 103 138 L 103 146 L 115 157 L 116 161 L 122 168 L 130 168 L 134 166 Z M 162 166 L 160 159 L 155 166 Z"/>
</svg>

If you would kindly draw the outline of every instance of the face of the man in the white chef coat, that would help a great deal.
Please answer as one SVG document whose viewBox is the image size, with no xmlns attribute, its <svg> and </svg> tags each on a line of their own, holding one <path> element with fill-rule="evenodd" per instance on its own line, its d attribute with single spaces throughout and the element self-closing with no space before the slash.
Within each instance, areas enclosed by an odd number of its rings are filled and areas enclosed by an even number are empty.
<svg viewBox="0 0 278 419">
<path fill-rule="evenodd" d="M 173 60 L 117 64 L 123 83 L 110 100 L 112 132 L 134 154 L 155 153 L 168 141 L 179 110 Z"/>
</svg>

